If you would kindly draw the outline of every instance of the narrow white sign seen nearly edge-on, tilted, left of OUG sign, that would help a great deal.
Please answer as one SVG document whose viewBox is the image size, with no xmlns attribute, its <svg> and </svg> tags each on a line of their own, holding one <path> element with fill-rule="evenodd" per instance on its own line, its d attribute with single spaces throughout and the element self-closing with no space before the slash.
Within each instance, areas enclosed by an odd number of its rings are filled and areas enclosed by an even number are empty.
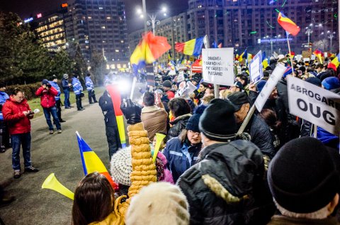
<svg viewBox="0 0 340 225">
<path fill-rule="evenodd" d="M 285 70 L 287 70 L 287 68 L 281 63 L 278 63 L 278 65 L 276 65 L 275 70 L 267 80 L 266 85 L 264 85 L 259 96 L 256 98 L 255 106 L 258 111 L 262 111 L 262 108 L 264 104 L 266 104 L 269 95 L 271 95 L 271 92 L 273 92 L 273 89 L 276 87 L 276 84 L 280 81 L 281 77 L 285 73 Z"/>
</svg>

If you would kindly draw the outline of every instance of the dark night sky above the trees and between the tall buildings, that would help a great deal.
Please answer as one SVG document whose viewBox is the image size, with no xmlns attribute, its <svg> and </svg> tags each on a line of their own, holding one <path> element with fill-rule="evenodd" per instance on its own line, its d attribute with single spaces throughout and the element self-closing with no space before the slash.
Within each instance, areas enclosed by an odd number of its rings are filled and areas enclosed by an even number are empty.
<svg viewBox="0 0 340 225">
<path fill-rule="evenodd" d="M 35 16 L 38 13 L 54 11 L 67 0 L 1 0 L 0 11 L 13 11 L 21 18 Z M 169 14 L 176 15 L 188 8 L 185 0 L 146 0 L 147 11 L 157 11 L 163 5 L 169 9 Z M 134 31 L 142 28 L 142 21 L 136 16 L 136 6 L 142 6 L 142 0 L 125 0 L 125 9 L 128 20 L 128 30 Z M 163 17 L 164 18 L 164 17 Z"/>
</svg>

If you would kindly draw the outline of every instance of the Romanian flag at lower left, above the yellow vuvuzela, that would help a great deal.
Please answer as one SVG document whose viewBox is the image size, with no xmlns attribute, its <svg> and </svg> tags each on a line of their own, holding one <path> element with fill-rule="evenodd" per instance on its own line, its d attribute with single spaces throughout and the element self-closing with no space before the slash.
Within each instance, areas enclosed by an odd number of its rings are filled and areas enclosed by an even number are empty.
<svg viewBox="0 0 340 225">
<path fill-rule="evenodd" d="M 99 172 L 100 174 L 104 175 L 108 182 L 111 183 L 112 187 L 117 190 L 118 185 L 113 182 L 108 170 L 106 170 L 105 165 L 98 157 L 98 155 L 90 148 L 90 146 L 81 138 L 78 131 L 77 140 L 79 145 L 81 163 L 83 163 L 84 174 L 88 175 L 91 172 Z"/>
</svg>

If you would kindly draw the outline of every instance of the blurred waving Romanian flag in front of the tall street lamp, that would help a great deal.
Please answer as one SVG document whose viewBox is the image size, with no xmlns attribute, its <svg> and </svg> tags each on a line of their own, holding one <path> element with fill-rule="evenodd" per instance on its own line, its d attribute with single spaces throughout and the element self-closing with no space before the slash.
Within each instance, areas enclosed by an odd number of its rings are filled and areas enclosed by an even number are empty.
<svg viewBox="0 0 340 225">
<path fill-rule="evenodd" d="M 132 70 L 136 73 L 138 69 L 156 61 L 170 49 L 171 46 L 165 37 L 155 36 L 151 31 L 145 33 L 130 57 Z"/>
</svg>

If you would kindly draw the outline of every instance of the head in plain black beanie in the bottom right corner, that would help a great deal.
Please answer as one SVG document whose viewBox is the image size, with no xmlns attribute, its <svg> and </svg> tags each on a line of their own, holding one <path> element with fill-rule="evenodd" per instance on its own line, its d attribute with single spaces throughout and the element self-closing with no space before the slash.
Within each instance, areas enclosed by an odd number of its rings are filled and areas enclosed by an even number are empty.
<svg viewBox="0 0 340 225">
<path fill-rule="evenodd" d="M 339 203 L 339 165 L 339 153 L 316 138 L 286 143 L 269 165 L 268 184 L 281 215 L 268 224 L 339 224 L 332 215 Z"/>
</svg>

